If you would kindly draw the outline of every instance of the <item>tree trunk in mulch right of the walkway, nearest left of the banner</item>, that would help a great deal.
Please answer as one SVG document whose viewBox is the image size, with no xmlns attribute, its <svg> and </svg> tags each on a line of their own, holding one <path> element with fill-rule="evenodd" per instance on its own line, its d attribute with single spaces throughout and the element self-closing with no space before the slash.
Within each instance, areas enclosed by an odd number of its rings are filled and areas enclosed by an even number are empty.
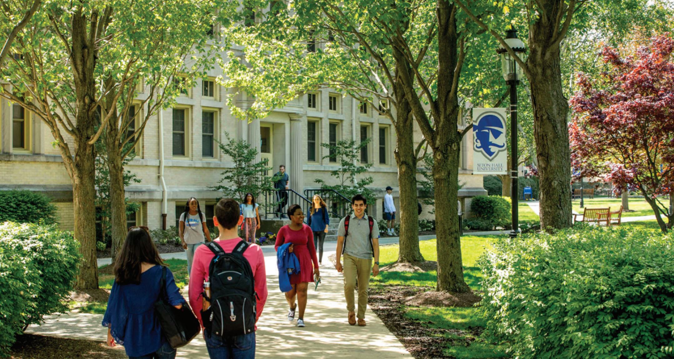
<svg viewBox="0 0 674 359">
<path fill-rule="evenodd" d="M 435 233 L 437 233 L 437 290 L 469 292 L 464 281 L 461 237 L 456 200 L 460 136 L 450 146 L 433 148 L 435 184 Z"/>
</svg>

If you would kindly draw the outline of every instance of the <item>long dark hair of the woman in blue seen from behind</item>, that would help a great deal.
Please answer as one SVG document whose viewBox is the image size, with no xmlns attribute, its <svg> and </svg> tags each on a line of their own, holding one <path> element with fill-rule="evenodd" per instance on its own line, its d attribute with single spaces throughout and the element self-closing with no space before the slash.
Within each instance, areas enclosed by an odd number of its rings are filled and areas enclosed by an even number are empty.
<svg viewBox="0 0 674 359">
<path fill-rule="evenodd" d="M 141 263 L 164 265 L 150 233 L 141 227 L 131 227 L 115 260 L 117 284 L 140 284 Z"/>
</svg>

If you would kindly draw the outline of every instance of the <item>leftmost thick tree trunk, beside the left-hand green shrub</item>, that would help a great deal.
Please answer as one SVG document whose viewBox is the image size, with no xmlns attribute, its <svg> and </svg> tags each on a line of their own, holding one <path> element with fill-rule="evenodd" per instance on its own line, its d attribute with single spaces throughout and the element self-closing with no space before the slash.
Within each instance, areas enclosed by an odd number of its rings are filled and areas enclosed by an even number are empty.
<svg viewBox="0 0 674 359">
<path fill-rule="evenodd" d="M 92 128 L 93 132 L 93 128 Z M 75 216 L 75 240 L 80 242 L 82 265 L 75 287 L 98 288 L 98 265 L 96 263 L 96 188 L 94 187 L 94 146 L 85 138 L 75 138 L 75 169 L 73 171 L 73 215 Z"/>
</svg>

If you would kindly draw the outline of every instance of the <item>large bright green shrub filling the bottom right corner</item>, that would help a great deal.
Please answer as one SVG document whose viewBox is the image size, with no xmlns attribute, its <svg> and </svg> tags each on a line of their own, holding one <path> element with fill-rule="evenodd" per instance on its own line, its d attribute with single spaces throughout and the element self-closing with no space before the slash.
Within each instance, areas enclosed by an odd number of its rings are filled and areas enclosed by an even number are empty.
<svg viewBox="0 0 674 359">
<path fill-rule="evenodd" d="M 674 236 L 580 227 L 493 242 L 487 333 L 518 358 L 672 358 Z"/>
</svg>

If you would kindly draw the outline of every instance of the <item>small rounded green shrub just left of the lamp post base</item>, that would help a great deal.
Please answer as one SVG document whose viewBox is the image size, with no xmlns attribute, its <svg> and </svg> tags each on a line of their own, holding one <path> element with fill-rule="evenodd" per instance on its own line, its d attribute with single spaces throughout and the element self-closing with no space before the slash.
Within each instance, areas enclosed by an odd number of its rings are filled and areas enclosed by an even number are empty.
<svg viewBox="0 0 674 359">
<path fill-rule="evenodd" d="M 501 196 L 475 196 L 470 200 L 470 214 L 478 221 L 471 221 L 473 218 L 466 219 L 470 225 L 479 226 L 479 230 L 495 229 L 503 227 L 510 223 L 510 200 Z M 491 228 L 487 229 L 486 223 L 489 222 Z M 464 222 L 465 223 L 465 222 Z"/>
</svg>

